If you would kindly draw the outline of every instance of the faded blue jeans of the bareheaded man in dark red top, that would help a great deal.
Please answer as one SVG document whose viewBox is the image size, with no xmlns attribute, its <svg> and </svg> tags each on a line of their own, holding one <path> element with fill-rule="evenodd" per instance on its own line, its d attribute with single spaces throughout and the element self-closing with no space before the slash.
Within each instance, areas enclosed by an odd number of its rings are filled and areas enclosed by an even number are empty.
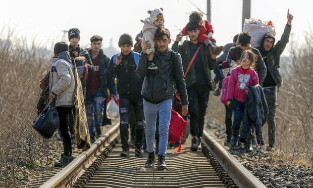
<svg viewBox="0 0 313 188">
<path fill-rule="evenodd" d="M 100 89 L 94 94 L 86 93 L 85 108 L 90 137 L 95 136 L 96 128 L 100 128 L 103 119 L 105 98 Z"/>
</svg>

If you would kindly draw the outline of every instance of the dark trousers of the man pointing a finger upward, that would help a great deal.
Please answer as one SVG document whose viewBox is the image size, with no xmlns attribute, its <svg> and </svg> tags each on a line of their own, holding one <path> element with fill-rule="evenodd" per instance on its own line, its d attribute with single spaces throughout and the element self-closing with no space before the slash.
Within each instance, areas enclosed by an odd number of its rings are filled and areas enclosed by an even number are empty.
<svg viewBox="0 0 313 188">
<path fill-rule="evenodd" d="M 264 92 L 269 107 L 268 126 L 269 126 L 269 146 L 274 147 L 276 139 L 276 107 L 277 107 L 277 87 L 267 88 L 270 91 Z"/>
</svg>

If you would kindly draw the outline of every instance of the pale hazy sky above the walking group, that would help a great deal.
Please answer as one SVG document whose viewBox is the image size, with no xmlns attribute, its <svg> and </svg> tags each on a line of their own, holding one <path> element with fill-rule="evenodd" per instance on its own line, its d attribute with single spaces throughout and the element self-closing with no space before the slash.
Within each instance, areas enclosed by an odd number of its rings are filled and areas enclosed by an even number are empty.
<svg viewBox="0 0 313 188">
<path fill-rule="evenodd" d="M 190 12 L 197 7 L 206 13 L 206 1 L 194 0 L 154 0 L 154 1 L 66 1 L 66 0 L 10 0 L 2 2 L 0 11 L 1 36 L 6 36 L 8 28 L 14 29 L 16 36 L 47 46 L 52 50 L 60 40 L 68 42 L 64 30 L 77 27 L 80 44 L 89 46 L 89 38 L 98 34 L 103 40 L 103 48 L 109 46 L 110 38 L 118 48 L 119 36 L 127 32 L 135 38 L 142 29 L 140 19 L 148 17 L 147 10 L 163 8 L 165 27 L 171 31 L 172 39 L 188 22 Z M 194 5 L 195 6 L 194 6 Z M 313 26 L 310 0 L 251 0 L 251 18 L 272 20 L 276 28 L 277 40 L 287 23 L 287 9 L 294 16 L 291 33 L 295 38 L 303 37 L 303 32 Z M 211 0 L 211 24 L 214 37 L 219 45 L 232 41 L 241 32 L 242 0 Z M 170 45 L 171 46 L 171 45 Z"/>
</svg>

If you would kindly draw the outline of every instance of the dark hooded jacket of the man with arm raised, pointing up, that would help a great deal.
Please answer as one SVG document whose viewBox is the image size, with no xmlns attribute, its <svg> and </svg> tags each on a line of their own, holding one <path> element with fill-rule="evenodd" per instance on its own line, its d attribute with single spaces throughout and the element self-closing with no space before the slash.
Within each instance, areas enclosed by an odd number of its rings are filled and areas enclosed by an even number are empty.
<svg viewBox="0 0 313 188">
<path fill-rule="evenodd" d="M 279 60 L 280 60 L 281 54 L 285 50 L 286 45 L 289 41 L 290 31 L 291 31 L 291 25 L 286 24 L 284 33 L 282 34 L 281 39 L 275 45 L 273 45 L 272 49 L 268 51 L 267 53 L 268 74 L 271 74 L 272 78 L 274 79 L 278 87 L 280 87 L 283 83 L 282 76 L 279 72 L 279 67 L 280 67 Z M 258 47 L 258 50 L 260 51 L 260 54 L 262 56 L 266 54 L 266 51 L 263 48 L 265 38 L 266 37 L 263 37 L 263 39 L 261 40 L 260 46 Z"/>
</svg>

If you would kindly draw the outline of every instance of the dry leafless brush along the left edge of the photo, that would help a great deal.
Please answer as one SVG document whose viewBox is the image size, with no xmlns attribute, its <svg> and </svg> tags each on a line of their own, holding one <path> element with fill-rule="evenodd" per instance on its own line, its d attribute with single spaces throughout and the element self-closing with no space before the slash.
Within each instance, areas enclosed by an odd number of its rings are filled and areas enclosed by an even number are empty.
<svg viewBox="0 0 313 188">
<path fill-rule="evenodd" d="M 0 39 L 0 186 L 14 186 L 27 178 L 23 168 L 36 170 L 46 161 L 47 141 L 31 127 L 36 117 L 39 80 L 48 70 L 50 54 L 27 46 L 8 29 Z M 0 38 L 4 38 L 3 32 Z M 40 161 L 40 162 L 38 162 Z"/>
</svg>

